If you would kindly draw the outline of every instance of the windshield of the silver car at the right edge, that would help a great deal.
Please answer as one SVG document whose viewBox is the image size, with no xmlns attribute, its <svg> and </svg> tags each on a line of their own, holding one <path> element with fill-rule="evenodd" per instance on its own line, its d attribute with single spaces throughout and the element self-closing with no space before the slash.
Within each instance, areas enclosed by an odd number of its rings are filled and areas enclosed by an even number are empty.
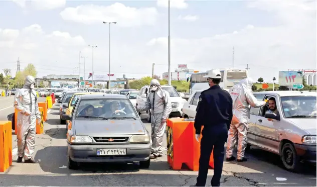
<svg viewBox="0 0 317 187">
<path fill-rule="evenodd" d="M 281 97 L 285 118 L 316 117 L 316 97 L 287 96 Z"/>
</svg>

